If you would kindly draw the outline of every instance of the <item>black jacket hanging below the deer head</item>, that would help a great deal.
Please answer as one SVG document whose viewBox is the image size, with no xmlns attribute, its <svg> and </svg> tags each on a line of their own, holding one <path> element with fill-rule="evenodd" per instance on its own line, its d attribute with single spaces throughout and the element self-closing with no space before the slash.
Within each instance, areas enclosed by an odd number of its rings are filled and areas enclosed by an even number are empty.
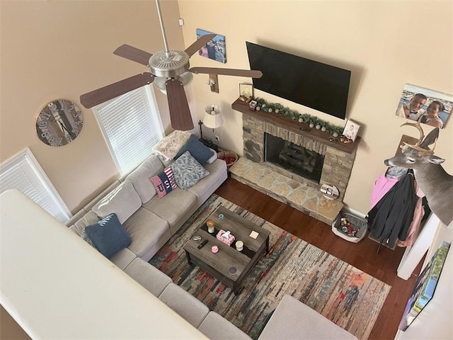
<svg viewBox="0 0 453 340">
<path fill-rule="evenodd" d="M 418 196 L 412 174 L 403 176 L 368 212 L 371 237 L 387 240 L 390 247 L 396 239 L 405 240 Z"/>
</svg>

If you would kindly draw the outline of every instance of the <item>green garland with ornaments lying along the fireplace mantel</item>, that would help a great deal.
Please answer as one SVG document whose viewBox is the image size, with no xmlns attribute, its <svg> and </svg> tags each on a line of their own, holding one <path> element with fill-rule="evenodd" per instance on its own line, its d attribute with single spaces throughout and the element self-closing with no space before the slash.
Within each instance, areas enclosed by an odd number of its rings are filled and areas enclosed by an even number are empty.
<svg viewBox="0 0 453 340">
<path fill-rule="evenodd" d="M 341 135 L 343 133 L 343 127 L 338 125 L 333 125 L 326 122 L 325 120 L 319 119 L 308 113 L 299 113 L 295 110 L 282 106 L 279 103 L 268 103 L 263 98 L 255 98 L 255 101 L 258 103 L 256 106 L 257 111 L 263 111 L 267 113 L 278 113 L 284 117 L 291 118 L 292 120 L 297 120 L 299 123 L 308 123 L 313 124 L 314 127 L 318 128 L 316 125 L 319 125 L 319 129 L 327 133 L 337 133 Z"/>
</svg>

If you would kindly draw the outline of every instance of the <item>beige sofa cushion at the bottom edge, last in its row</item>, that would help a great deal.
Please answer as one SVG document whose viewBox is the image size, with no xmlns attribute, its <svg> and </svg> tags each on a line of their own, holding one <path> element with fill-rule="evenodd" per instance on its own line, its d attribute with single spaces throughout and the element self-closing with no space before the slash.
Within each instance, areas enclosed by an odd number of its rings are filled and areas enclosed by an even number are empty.
<svg viewBox="0 0 453 340">
<path fill-rule="evenodd" d="M 289 326 L 287 325 L 287 327 Z M 216 312 L 207 314 L 198 330 L 211 340 L 251 340 L 250 336 Z M 302 334 L 300 335 L 302 336 Z"/>
</svg>

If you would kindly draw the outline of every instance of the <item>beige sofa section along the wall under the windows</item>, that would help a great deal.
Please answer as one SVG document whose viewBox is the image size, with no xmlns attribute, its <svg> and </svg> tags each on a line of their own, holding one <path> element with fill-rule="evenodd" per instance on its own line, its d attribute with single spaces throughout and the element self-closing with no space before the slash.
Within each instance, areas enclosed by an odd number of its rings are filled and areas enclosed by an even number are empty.
<svg viewBox="0 0 453 340">
<path fill-rule="evenodd" d="M 122 269 L 135 257 L 149 261 L 226 180 L 226 163 L 222 159 L 202 165 L 209 175 L 187 191 L 177 187 L 159 198 L 149 178 L 164 171 L 165 165 L 156 154 L 151 154 L 131 174 L 115 181 L 77 212 L 67 225 L 81 235 L 86 226 L 115 212 L 132 243 L 110 260 Z"/>
</svg>

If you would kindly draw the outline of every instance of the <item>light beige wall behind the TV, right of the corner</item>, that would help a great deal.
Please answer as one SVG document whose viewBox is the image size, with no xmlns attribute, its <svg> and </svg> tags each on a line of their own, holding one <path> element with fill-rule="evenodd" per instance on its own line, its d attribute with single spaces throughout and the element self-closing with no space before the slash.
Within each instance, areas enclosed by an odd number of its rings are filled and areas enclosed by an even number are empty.
<svg viewBox="0 0 453 340">
<path fill-rule="evenodd" d="M 383 161 L 396 152 L 401 135 L 418 137 L 414 128 L 400 128 L 406 120 L 395 116 L 404 84 L 453 94 L 452 1 L 180 0 L 179 5 L 185 42 L 196 28 L 226 36 L 226 67 L 248 68 L 247 40 L 352 71 L 347 117 L 362 125 L 362 142 L 344 201 L 362 213 L 368 212 L 374 180 L 385 172 Z M 200 57 L 191 63 L 222 65 Z M 221 145 L 241 154 L 241 114 L 230 104 L 238 84 L 250 80 L 219 77 L 219 94 L 208 91 L 207 77 L 196 76 L 192 86 L 197 113 L 209 103 L 222 105 L 225 123 L 216 134 Z M 345 124 L 262 91 L 256 95 Z M 453 118 L 440 132 L 436 149 L 453 174 Z"/>
</svg>

